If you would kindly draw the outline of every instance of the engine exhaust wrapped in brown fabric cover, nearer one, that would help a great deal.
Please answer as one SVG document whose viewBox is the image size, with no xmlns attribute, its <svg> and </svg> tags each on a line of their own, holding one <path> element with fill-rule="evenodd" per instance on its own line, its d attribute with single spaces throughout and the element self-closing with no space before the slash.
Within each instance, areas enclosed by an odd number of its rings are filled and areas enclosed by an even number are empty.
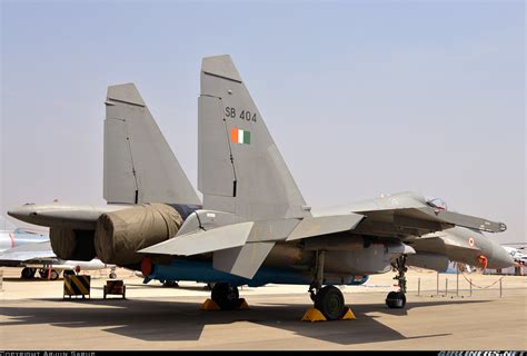
<svg viewBox="0 0 527 356">
<path fill-rule="evenodd" d="M 175 237 L 182 222 L 181 215 L 165 204 L 103 214 L 95 231 L 97 257 L 105 264 L 139 264 L 143 256 L 137 250 Z"/>
</svg>

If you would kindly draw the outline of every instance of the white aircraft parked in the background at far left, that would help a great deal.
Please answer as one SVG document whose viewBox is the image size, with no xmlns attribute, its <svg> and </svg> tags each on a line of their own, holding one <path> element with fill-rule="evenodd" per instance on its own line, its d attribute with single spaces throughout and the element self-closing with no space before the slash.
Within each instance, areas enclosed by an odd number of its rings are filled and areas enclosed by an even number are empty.
<svg viewBox="0 0 527 356">
<path fill-rule="evenodd" d="M 0 217 L 0 267 L 23 267 L 20 277 L 30 279 L 37 269 L 43 279 L 58 279 L 60 274 L 73 275 L 80 270 L 111 268 L 110 278 L 116 278 L 116 266 L 100 259 L 63 260 L 54 255 L 49 236 L 40 231 L 14 228 Z"/>
</svg>

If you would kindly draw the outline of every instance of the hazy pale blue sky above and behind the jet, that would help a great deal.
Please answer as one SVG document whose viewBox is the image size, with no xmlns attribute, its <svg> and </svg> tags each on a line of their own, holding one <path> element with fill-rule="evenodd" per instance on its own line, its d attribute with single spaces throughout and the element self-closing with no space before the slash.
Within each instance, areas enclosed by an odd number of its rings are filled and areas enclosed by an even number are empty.
<svg viewBox="0 0 527 356">
<path fill-rule="evenodd" d="M 523 1 L 2 1 L 0 212 L 103 204 L 108 85 L 191 181 L 203 56 L 230 53 L 306 200 L 414 190 L 526 240 Z"/>
</svg>

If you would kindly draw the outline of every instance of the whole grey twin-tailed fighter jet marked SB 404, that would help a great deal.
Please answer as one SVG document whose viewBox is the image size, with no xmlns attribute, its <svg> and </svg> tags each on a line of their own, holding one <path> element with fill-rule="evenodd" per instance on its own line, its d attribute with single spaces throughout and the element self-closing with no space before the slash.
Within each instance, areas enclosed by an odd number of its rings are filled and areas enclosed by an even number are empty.
<svg viewBox="0 0 527 356">
<path fill-rule="evenodd" d="M 311 209 L 229 56 L 203 59 L 198 102 L 202 205 L 139 92 L 125 85 L 110 87 L 106 101 L 109 205 L 33 205 L 9 214 L 50 226 L 58 255 L 67 247 L 78 257 L 97 255 L 140 269 L 147 279 L 213 283 L 211 297 L 223 309 L 239 305 L 241 285 L 309 285 L 315 307 L 327 319 L 345 312 L 335 285 L 361 284 L 370 274 L 391 269 L 398 273 L 400 290 L 390 293 L 386 303 L 404 307 L 408 259 L 427 251 L 412 247 L 427 234 L 456 226 L 506 229 L 501 222 L 440 209 L 412 192 Z M 509 260 L 493 255 L 490 245 L 474 239 L 471 247 L 489 266 L 507 265 Z M 453 249 L 427 253 L 449 258 Z"/>
</svg>

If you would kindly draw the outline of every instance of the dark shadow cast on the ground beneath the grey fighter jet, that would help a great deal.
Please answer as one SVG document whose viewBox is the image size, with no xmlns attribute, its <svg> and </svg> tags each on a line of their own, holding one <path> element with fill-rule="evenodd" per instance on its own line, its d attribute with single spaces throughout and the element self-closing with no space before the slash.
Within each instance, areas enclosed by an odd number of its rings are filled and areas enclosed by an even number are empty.
<svg viewBox="0 0 527 356">
<path fill-rule="evenodd" d="M 46 300 L 46 299 L 39 299 Z M 132 337 L 146 342 L 199 340 L 207 325 L 249 322 L 268 327 L 296 333 L 297 335 L 340 345 L 380 343 L 409 339 L 395 329 L 377 322 L 378 316 L 367 315 L 377 312 L 405 316 L 406 310 L 388 309 L 384 304 L 355 305 L 356 320 L 330 323 L 302 323 L 301 316 L 310 304 L 282 305 L 266 304 L 251 306 L 250 310 L 203 312 L 195 301 L 165 301 L 145 299 L 73 299 L 74 308 L 62 308 L 54 301 L 53 307 L 9 307 L 2 306 L 0 314 L 10 317 L 3 327 L 17 324 L 51 324 L 68 328 L 97 327 L 108 333 Z M 421 308 L 445 305 L 451 301 L 437 300 L 408 303 L 407 308 Z M 456 304 L 481 303 L 464 300 Z M 86 307 L 83 307 L 86 305 Z M 99 307 L 92 308 L 91 305 Z M 100 306 L 107 306 L 100 307 Z M 119 326 L 116 326 L 119 325 Z M 411 338 L 427 338 L 450 334 L 426 334 Z"/>
</svg>

